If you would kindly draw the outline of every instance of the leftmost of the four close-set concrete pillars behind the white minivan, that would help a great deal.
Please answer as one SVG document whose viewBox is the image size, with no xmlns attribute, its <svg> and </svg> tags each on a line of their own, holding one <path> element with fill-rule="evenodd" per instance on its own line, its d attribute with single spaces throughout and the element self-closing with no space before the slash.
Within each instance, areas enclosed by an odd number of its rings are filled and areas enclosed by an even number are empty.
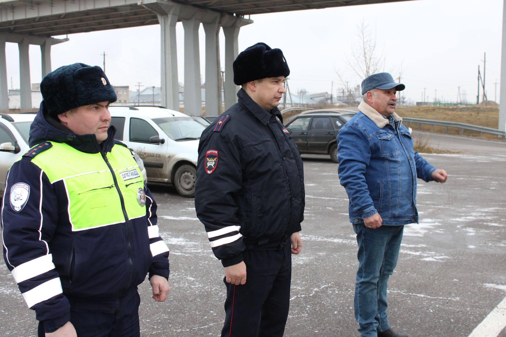
<svg viewBox="0 0 506 337">
<path fill-rule="evenodd" d="M 176 23 L 179 8 L 168 14 L 158 14 L 161 29 L 161 105 L 179 111 L 178 55 Z"/>
</svg>

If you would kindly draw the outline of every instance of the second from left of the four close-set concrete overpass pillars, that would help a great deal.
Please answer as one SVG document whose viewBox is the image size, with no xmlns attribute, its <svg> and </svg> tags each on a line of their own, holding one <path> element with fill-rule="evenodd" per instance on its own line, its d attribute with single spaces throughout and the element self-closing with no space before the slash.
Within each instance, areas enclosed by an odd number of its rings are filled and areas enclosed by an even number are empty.
<svg viewBox="0 0 506 337">
<path fill-rule="evenodd" d="M 183 20 L 185 30 L 185 114 L 202 115 L 198 19 Z"/>
</svg>

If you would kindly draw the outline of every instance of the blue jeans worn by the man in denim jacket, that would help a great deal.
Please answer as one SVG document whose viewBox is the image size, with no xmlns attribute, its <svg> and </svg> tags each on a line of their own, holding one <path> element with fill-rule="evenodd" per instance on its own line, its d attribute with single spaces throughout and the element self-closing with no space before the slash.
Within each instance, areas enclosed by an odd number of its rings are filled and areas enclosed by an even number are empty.
<svg viewBox="0 0 506 337">
<path fill-rule="evenodd" d="M 363 337 L 377 337 L 390 328 L 387 319 L 387 284 L 394 272 L 401 247 L 403 225 L 376 229 L 358 224 L 358 270 L 355 282 L 355 318 Z"/>
</svg>

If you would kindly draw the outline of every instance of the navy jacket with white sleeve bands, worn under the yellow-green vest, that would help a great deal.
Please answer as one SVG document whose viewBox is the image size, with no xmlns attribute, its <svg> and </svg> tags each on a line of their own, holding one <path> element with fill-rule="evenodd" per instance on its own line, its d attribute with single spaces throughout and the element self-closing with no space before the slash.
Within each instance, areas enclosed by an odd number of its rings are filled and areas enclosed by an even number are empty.
<svg viewBox="0 0 506 337">
<path fill-rule="evenodd" d="M 109 128 L 109 137 L 99 145 L 94 134 L 78 135 L 68 129 L 65 132 L 65 127 L 54 118 L 46 118 L 45 110 L 43 102 L 31 125 L 30 146 L 47 141 L 67 142 L 77 151 L 102 153 L 104 158 L 113 147 L 122 146 L 114 141 L 114 127 Z M 132 165 L 136 165 L 134 159 Z M 169 274 L 168 249 L 154 257 L 153 250 L 150 252 L 153 244 L 164 244 L 157 234 L 156 203 L 146 186 L 145 216 L 72 231 L 63 180 L 50 182 L 25 155 L 8 172 L 2 205 L 7 267 L 17 278 L 19 290 L 37 319 L 44 321 L 46 332 L 67 322 L 71 307 L 76 311 L 121 310 L 122 300 L 136 292 L 148 271 L 150 276 Z M 9 204 L 10 188 L 16 183 L 30 186 L 21 211 L 13 210 Z M 148 227 L 155 234 L 149 234 Z"/>
</svg>

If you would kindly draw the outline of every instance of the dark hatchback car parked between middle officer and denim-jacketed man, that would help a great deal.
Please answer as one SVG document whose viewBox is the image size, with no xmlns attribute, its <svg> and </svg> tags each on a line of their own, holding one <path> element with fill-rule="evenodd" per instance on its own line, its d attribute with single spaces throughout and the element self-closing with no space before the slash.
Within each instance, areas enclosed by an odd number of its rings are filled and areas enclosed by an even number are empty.
<svg viewBox="0 0 506 337">
<path fill-rule="evenodd" d="M 300 153 L 328 154 L 338 162 L 339 130 L 355 113 L 331 111 L 306 112 L 288 122 L 285 127 L 293 136 Z"/>
</svg>

